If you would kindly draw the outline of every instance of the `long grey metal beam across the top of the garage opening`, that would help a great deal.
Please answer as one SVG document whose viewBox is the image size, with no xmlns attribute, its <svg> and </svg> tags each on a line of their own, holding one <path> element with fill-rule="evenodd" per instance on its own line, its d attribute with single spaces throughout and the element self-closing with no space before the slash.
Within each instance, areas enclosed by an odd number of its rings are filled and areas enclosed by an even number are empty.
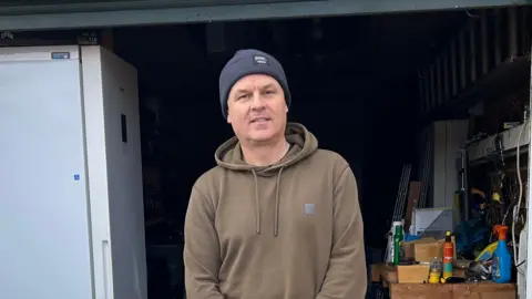
<svg viewBox="0 0 532 299">
<path fill-rule="evenodd" d="M 328 0 L 76 13 L 49 11 L 42 14 L 0 16 L 0 31 L 334 17 L 525 4 L 532 4 L 532 0 Z"/>
</svg>

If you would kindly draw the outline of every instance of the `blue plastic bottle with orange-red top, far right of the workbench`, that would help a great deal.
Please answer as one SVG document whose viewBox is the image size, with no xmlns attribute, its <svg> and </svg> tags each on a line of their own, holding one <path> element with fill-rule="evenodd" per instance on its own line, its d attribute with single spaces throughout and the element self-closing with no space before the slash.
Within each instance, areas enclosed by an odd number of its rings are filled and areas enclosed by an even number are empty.
<svg viewBox="0 0 532 299">
<path fill-rule="evenodd" d="M 499 235 L 499 243 L 492 257 L 491 279 L 497 283 L 508 283 L 511 279 L 510 270 L 512 267 L 512 257 L 510 256 L 510 251 L 507 247 L 508 226 L 495 225 L 493 230 L 495 230 L 495 233 Z"/>
</svg>

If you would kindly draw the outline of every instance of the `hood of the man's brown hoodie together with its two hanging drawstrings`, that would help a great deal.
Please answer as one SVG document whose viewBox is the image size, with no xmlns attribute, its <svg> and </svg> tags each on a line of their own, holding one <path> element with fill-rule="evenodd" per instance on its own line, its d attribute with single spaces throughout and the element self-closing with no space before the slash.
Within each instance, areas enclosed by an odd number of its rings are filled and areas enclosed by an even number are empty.
<svg viewBox="0 0 532 299">
<path fill-rule="evenodd" d="M 283 171 L 310 156 L 318 148 L 318 140 L 301 124 L 287 123 L 285 136 L 286 141 L 290 144 L 290 150 L 284 158 L 269 166 L 254 166 L 246 164 L 242 155 L 241 144 L 236 136 L 222 144 L 214 155 L 218 166 L 234 172 L 248 172 L 253 175 L 255 184 L 255 226 L 257 235 L 260 234 L 260 186 L 258 184 L 258 176 L 277 176 L 275 179 L 274 216 L 274 236 L 277 237 L 279 231 L 279 198 Z"/>
</svg>

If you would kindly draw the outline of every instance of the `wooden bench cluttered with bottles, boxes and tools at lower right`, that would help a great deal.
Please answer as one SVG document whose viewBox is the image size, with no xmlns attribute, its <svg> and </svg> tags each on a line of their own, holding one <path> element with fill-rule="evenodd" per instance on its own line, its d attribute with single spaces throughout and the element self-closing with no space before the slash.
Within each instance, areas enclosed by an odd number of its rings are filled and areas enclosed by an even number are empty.
<svg viewBox="0 0 532 299">
<path fill-rule="evenodd" d="M 521 255 L 513 252 L 514 262 L 509 247 L 515 244 L 509 237 L 513 225 L 504 220 L 489 225 L 482 212 L 460 221 L 451 207 L 413 208 L 411 213 L 411 217 L 407 213 L 410 225 L 405 226 L 407 219 L 393 221 L 386 262 L 371 267 L 371 280 L 382 282 L 372 283 L 372 288 L 380 286 L 375 289 L 377 298 L 386 298 L 381 293 L 387 291 L 391 299 L 515 298 L 512 272 L 525 269 L 525 249 L 520 247 Z"/>
</svg>

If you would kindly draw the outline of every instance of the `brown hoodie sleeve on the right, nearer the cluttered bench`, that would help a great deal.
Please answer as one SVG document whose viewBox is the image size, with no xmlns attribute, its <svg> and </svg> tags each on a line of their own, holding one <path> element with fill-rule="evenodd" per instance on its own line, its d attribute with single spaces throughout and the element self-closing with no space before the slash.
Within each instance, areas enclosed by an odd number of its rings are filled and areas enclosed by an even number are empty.
<svg viewBox="0 0 532 299">
<path fill-rule="evenodd" d="M 335 186 L 332 249 L 317 299 L 364 299 L 366 289 L 362 217 L 357 183 L 348 166 Z"/>
</svg>

